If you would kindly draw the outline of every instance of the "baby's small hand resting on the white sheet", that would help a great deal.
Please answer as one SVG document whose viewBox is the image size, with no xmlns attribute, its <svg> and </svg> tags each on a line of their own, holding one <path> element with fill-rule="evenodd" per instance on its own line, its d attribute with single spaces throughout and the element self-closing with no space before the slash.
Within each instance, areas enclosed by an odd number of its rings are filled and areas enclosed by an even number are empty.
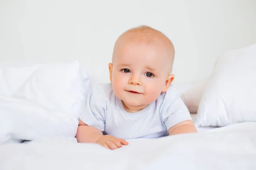
<svg viewBox="0 0 256 170">
<path fill-rule="evenodd" d="M 96 143 L 111 150 L 118 149 L 122 147 L 122 145 L 128 145 L 128 142 L 124 139 L 119 139 L 111 135 L 104 135 L 100 137 Z"/>
</svg>

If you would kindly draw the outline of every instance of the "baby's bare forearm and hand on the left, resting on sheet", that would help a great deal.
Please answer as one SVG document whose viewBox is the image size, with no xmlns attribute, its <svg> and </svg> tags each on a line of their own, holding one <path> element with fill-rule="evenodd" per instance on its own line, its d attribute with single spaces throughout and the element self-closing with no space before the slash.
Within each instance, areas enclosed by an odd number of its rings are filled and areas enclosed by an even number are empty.
<svg viewBox="0 0 256 170">
<path fill-rule="evenodd" d="M 114 150 L 127 145 L 124 139 L 119 139 L 111 135 L 103 135 L 102 131 L 96 127 L 88 126 L 79 119 L 79 126 L 76 133 L 77 142 L 98 143 L 102 146 Z"/>
</svg>

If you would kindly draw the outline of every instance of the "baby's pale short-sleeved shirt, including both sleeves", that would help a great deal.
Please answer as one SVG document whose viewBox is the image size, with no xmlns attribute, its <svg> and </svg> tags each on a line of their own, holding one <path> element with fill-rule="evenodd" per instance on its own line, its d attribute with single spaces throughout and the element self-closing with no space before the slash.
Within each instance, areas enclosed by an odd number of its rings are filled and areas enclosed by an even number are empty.
<svg viewBox="0 0 256 170">
<path fill-rule="evenodd" d="M 136 113 L 128 113 L 111 84 L 95 87 L 87 97 L 80 119 L 85 124 L 122 139 L 167 136 L 172 126 L 191 120 L 186 105 L 171 85 L 157 100 Z"/>
</svg>

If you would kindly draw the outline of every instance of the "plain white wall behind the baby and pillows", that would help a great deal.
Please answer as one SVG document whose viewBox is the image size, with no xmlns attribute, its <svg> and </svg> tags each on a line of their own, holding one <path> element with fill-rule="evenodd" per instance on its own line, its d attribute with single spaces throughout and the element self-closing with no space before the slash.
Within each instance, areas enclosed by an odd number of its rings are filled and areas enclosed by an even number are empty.
<svg viewBox="0 0 256 170">
<path fill-rule="evenodd" d="M 255 43 L 255 18 L 255 0 L 1 0 L 0 62 L 79 59 L 108 82 L 116 38 L 148 25 L 173 41 L 176 82 L 188 82 L 222 51 Z"/>
</svg>

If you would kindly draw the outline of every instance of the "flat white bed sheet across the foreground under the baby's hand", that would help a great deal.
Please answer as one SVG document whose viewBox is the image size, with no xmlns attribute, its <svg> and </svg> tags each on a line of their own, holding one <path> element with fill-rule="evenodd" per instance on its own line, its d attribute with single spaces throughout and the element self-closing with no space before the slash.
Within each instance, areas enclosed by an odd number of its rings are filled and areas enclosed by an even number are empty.
<svg viewBox="0 0 256 170">
<path fill-rule="evenodd" d="M 113 151 L 97 144 L 78 144 L 73 137 L 55 137 L 3 144 L 0 153 L 1 170 L 255 170 L 256 123 L 133 139 Z"/>
</svg>

